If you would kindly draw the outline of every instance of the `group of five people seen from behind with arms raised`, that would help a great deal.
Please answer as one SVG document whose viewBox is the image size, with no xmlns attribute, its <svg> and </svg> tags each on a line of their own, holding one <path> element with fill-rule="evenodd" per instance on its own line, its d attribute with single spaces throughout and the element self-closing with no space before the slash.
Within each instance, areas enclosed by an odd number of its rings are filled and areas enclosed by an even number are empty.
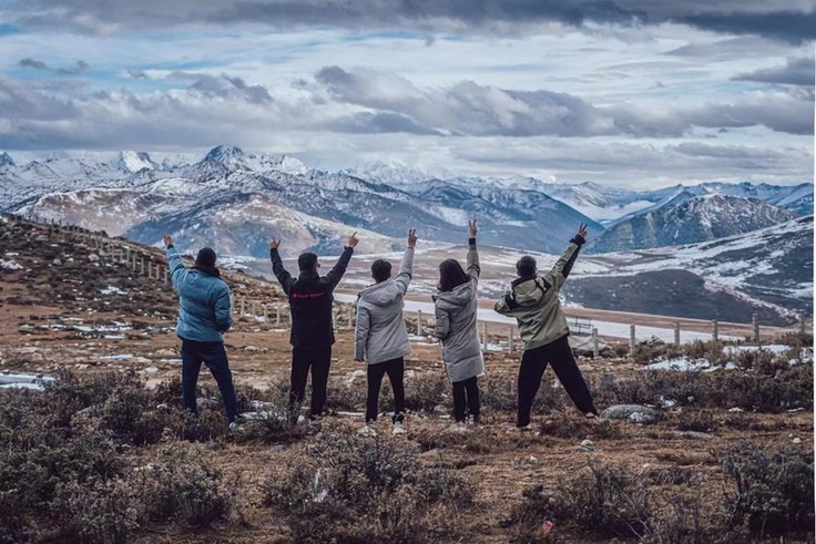
<svg viewBox="0 0 816 544">
<path fill-rule="evenodd" d="M 306 383 L 312 374 L 312 398 L 308 418 L 324 414 L 326 388 L 335 342 L 332 314 L 333 291 L 359 242 L 357 233 L 349 236 L 339 259 L 325 276 L 320 261 L 312 252 L 297 259 L 298 276 L 284 267 L 279 254 L 280 240 L 269 240 L 272 270 L 288 297 L 292 314 L 292 373 L 288 399 L 290 423 L 298 421 Z M 477 331 L 477 285 L 481 267 L 476 246 L 476 220 L 469 222 L 466 267 L 453 258 L 439 265 L 439 283 L 432 296 L 436 325 L 434 333 L 442 345 L 442 359 L 451 382 L 455 424 L 451 430 L 466 430 L 467 423 L 479 423 L 479 378 L 484 374 L 484 359 Z M 524 352 L 518 374 L 518 412 L 512 430 L 529 430 L 532 403 L 548 363 L 574 402 L 588 418 L 598 415 L 586 382 L 581 376 L 568 342 L 569 326 L 561 309 L 559 291 L 572 270 L 579 250 L 586 238 L 581 225 L 552 269 L 539 274 L 536 259 L 529 255 L 516 264 L 518 277 L 496 302 L 499 314 L 517 319 Z M 357 299 L 355 327 L 356 361 L 367 363 L 366 425 L 361 432 L 373 433 L 378 415 L 379 391 L 387 374 L 394 392 L 392 432 L 405 432 L 405 357 L 411 352 L 402 310 L 404 298 L 412 279 L 417 233 L 408 232 L 407 248 L 396 277 L 391 264 L 376 259 L 371 264 L 374 284 L 363 289 Z M 230 288 L 215 267 L 216 255 L 211 248 L 198 252 L 195 265 L 186 268 L 173 245 L 167 247 L 173 287 L 180 296 L 176 333 L 182 340 L 182 403 L 196 412 L 195 388 L 204 362 L 221 391 L 231 428 L 239 424 L 239 414 L 232 373 L 224 350 L 223 333 L 232 325 Z"/>
</svg>

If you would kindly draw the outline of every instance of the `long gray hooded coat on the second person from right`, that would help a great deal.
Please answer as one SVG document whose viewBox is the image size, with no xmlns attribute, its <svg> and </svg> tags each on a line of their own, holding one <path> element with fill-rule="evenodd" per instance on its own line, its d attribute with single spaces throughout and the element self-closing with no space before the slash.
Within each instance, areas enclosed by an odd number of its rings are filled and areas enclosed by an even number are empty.
<svg viewBox="0 0 816 544">
<path fill-rule="evenodd" d="M 470 281 L 434 296 L 437 319 L 434 332 L 442 341 L 445 367 L 452 382 L 484 373 L 481 343 L 476 330 L 476 287 L 480 270 L 476 240 L 471 239 L 468 247 Z"/>
</svg>

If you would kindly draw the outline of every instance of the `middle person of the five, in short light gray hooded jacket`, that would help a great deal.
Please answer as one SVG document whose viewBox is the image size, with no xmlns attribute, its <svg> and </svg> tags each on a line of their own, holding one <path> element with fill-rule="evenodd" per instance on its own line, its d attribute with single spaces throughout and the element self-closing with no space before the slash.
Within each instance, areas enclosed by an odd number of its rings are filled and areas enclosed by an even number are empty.
<svg viewBox="0 0 816 544">
<path fill-rule="evenodd" d="M 408 291 L 414 266 L 414 248 L 417 232 L 408 230 L 408 248 L 402 256 L 399 274 L 391 279 L 391 264 L 377 259 L 371 264 L 375 285 L 363 289 L 357 298 L 357 328 L 355 331 L 354 358 L 368 359 L 368 396 L 366 399 L 366 424 L 377 420 L 377 401 L 382 377 L 387 373 L 394 390 L 394 433 L 405 432 L 404 357 L 411 352 L 408 330 L 405 327 L 402 298 Z M 371 429 L 370 427 L 364 429 Z"/>
</svg>

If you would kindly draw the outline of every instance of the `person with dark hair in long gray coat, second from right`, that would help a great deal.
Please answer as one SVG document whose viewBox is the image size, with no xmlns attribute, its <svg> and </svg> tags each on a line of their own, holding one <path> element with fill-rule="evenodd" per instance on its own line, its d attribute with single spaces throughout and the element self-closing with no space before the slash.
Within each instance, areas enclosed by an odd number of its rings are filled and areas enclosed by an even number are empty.
<svg viewBox="0 0 816 544">
<path fill-rule="evenodd" d="M 453 429 L 465 429 L 467 406 L 472 421 L 479 421 L 479 384 L 484 373 L 479 333 L 476 330 L 479 283 L 479 253 L 476 250 L 476 220 L 469 222 L 468 271 L 456 259 L 439 265 L 439 291 L 434 295 L 435 335 L 442 342 L 448 378 L 453 384 Z"/>
</svg>

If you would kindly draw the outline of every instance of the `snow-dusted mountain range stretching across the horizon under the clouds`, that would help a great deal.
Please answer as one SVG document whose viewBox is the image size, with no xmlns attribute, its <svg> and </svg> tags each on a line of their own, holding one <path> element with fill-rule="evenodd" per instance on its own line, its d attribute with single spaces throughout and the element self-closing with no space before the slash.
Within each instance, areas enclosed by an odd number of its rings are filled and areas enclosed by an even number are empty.
<svg viewBox="0 0 816 544">
<path fill-rule="evenodd" d="M 3 153 L 0 209 L 149 244 L 166 230 L 184 244 L 255 257 L 265 256 L 271 236 L 290 239 L 287 252 L 336 253 L 354 229 L 366 232 L 373 252 L 399 247 L 409 226 L 427 240 L 457 244 L 471 217 L 482 244 L 543 253 L 560 252 L 585 223 L 586 250 L 603 253 L 705 242 L 812 214 L 813 184 L 636 192 L 522 176 L 440 179 L 381 163 L 325 172 L 221 145 L 200 161 L 161 163 L 122 152 L 109 161 L 54 154 L 19 164 Z"/>
</svg>

